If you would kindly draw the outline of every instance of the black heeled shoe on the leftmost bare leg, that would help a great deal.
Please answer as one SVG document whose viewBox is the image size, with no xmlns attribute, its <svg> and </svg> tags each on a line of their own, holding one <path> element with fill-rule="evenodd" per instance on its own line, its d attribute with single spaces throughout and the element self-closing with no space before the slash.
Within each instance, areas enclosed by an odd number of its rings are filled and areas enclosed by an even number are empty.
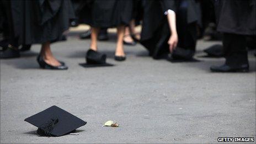
<svg viewBox="0 0 256 144">
<path fill-rule="evenodd" d="M 44 68 L 44 69 L 47 69 L 47 70 L 67 70 L 68 69 L 68 67 L 65 65 L 64 62 L 60 62 L 61 63 L 60 66 L 51 66 L 51 65 L 49 65 L 48 63 L 46 63 L 44 61 L 44 58 L 42 58 L 41 55 L 39 55 L 38 58 L 36 58 L 36 60 L 38 61 L 39 66 L 41 68 Z"/>
</svg>

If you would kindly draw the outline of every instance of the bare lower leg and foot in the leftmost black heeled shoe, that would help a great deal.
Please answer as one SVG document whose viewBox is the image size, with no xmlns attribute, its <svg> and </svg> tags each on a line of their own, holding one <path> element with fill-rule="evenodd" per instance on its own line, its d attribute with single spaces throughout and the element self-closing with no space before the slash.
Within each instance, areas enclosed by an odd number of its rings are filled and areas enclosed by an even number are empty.
<svg viewBox="0 0 256 144">
<path fill-rule="evenodd" d="M 50 42 L 42 44 L 40 55 L 44 58 L 44 61 L 51 66 L 61 65 L 51 52 Z"/>
</svg>

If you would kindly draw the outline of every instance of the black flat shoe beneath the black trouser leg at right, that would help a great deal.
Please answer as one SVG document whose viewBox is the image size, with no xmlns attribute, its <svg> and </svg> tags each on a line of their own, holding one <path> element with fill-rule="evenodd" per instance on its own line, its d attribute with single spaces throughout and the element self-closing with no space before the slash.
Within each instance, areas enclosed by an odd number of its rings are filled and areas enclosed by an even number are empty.
<svg viewBox="0 0 256 144">
<path fill-rule="evenodd" d="M 249 72 L 249 65 L 241 65 L 239 67 L 231 67 L 228 65 L 222 65 L 222 66 L 211 66 L 210 70 L 212 72 Z"/>
</svg>

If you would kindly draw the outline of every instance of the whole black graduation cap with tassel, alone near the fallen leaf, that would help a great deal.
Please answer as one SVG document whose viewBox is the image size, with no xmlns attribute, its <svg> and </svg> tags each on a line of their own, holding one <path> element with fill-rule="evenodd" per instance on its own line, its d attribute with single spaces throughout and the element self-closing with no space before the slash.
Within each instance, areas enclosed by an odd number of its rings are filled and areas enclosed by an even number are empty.
<svg viewBox="0 0 256 144">
<path fill-rule="evenodd" d="M 66 135 L 87 123 L 55 105 L 25 121 L 38 127 L 36 132 L 40 136 Z"/>
</svg>

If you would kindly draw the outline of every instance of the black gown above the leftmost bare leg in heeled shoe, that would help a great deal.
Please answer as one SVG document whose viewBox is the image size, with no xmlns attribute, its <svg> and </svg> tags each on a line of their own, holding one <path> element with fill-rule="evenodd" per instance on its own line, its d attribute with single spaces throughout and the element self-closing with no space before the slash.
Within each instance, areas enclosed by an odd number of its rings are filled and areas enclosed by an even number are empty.
<svg viewBox="0 0 256 144">
<path fill-rule="evenodd" d="M 62 40 L 74 18 L 71 2 L 66 1 L 11 1 L 15 36 L 19 44 L 42 44 Z"/>
</svg>

